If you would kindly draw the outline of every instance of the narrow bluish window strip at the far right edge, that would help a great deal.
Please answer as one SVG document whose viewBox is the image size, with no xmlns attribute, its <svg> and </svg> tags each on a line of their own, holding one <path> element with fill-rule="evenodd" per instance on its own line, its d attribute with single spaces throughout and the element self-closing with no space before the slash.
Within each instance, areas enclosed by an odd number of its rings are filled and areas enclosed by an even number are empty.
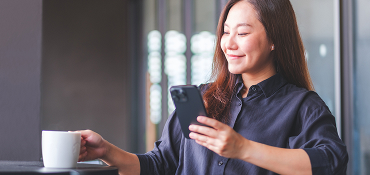
<svg viewBox="0 0 370 175">
<path fill-rule="evenodd" d="M 354 3 L 353 172 L 370 173 L 370 0 Z"/>
</svg>

